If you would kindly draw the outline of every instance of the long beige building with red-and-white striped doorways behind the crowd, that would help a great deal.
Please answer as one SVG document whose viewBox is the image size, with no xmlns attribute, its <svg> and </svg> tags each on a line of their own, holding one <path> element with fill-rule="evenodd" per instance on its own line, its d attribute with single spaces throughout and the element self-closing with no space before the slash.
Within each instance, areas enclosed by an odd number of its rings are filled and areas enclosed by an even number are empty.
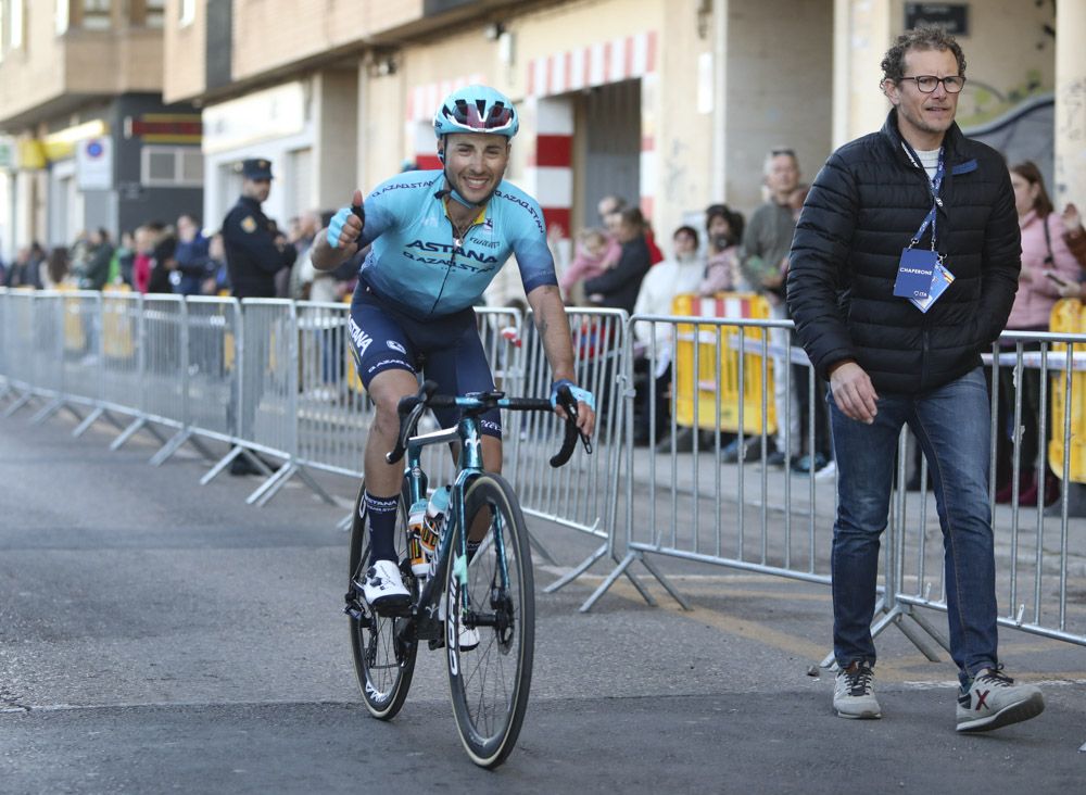
<svg viewBox="0 0 1086 795">
<path fill-rule="evenodd" d="M 967 132 L 1009 160 L 1037 160 L 1058 203 L 1086 204 L 1086 55 L 1075 46 L 1086 34 L 1086 3 L 161 7 L 163 101 L 202 113 L 207 226 L 235 201 L 235 169 L 245 157 L 274 162 L 265 209 L 280 224 L 303 210 L 341 206 L 355 188 L 366 191 L 404 167 L 434 166 L 430 119 L 438 102 L 456 86 L 481 81 L 518 103 L 522 131 L 508 178 L 540 199 L 560 252 L 578 229 L 598 224 L 595 206 L 607 193 L 640 204 L 667 241 L 711 202 L 752 211 L 761 201 L 769 149 L 794 149 L 810 179 L 834 147 L 881 126 L 888 104 L 879 90 L 880 60 L 898 33 L 923 20 L 955 30 L 969 56 L 959 112 Z M 3 90 L 0 121 L 18 115 L 5 109 Z M 515 279 L 515 269 L 506 274 Z M 516 286 L 500 285 L 498 292 L 515 293 Z"/>
</svg>

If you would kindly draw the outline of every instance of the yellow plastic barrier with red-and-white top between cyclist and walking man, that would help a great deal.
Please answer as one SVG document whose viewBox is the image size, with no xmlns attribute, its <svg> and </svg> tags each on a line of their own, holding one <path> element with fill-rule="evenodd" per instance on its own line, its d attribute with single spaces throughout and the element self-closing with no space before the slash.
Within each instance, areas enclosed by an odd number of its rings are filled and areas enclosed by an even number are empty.
<svg viewBox="0 0 1086 795">
<path fill-rule="evenodd" d="M 673 315 L 711 318 L 768 319 L 769 302 L 756 293 L 719 293 L 714 298 L 677 295 L 671 302 Z M 697 326 L 679 324 L 674 356 L 674 415 L 684 428 L 695 425 L 705 430 L 738 432 L 740 402 L 743 403 L 744 433 L 760 433 L 762 429 L 762 382 L 760 328 L 743 329 L 747 353 L 744 355 L 744 383 L 740 384 L 738 331 L 735 326 Z M 694 371 L 695 345 L 697 373 Z M 717 367 L 720 378 L 717 379 Z M 717 394 L 720 415 L 717 416 Z M 697 394 L 697 417 L 694 395 Z M 773 363 L 767 362 L 766 432 L 776 432 L 776 411 L 773 406 Z"/>
</svg>

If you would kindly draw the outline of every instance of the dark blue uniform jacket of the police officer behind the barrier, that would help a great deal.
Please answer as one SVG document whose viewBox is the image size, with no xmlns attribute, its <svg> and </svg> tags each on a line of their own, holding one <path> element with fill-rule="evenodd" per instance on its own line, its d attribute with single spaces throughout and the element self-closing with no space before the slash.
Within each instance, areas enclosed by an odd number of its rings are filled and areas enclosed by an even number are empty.
<svg viewBox="0 0 1086 795">
<path fill-rule="evenodd" d="M 275 243 L 272 222 L 255 199 L 241 197 L 223 220 L 226 266 L 236 298 L 275 298 L 275 275 L 294 264 L 294 247 Z"/>
</svg>

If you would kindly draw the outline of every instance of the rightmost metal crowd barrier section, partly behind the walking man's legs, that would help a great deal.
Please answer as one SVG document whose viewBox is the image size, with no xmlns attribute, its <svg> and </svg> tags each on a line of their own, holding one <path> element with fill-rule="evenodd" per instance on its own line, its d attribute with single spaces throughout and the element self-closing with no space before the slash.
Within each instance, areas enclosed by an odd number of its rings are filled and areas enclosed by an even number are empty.
<svg viewBox="0 0 1086 795">
<path fill-rule="evenodd" d="M 1052 325 L 1061 325 L 1057 315 L 1065 315 L 1069 311 L 1077 314 L 1079 308 L 1058 304 L 1052 313 Z M 1007 558 L 1006 564 L 997 561 L 996 566 L 997 600 L 1002 608 L 999 623 L 1081 645 L 1086 645 L 1086 620 L 1078 616 L 1075 622 L 1069 609 L 1074 604 L 1075 592 L 1082 589 L 1086 566 L 1073 564 L 1071 557 L 1086 557 L 1086 538 L 1082 527 L 1071 527 L 1069 507 L 1076 499 L 1082 500 L 1086 489 L 1082 485 L 1084 472 L 1076 471 L 1074 460 L 1074 449 L 1081 444 L 1082 433 L 1086 431 L 1086 392 L 1081 379 L 1081 370 L 1086 367 L 1084 358 L 1086 335 L 1062 331 L 1007 331 L 994 346 L 993 354 L 985 356 L 993 383 L 999 383 L 1000 371 L 1009 368 L 1016 384 L 1012 404 L 1005 412 L 1000 412 L 996 390 L 992 395 L 989 475 L 994 484 L 997 434 L 1005 433 L 1008 428 L 1012 431 L 1009 471 L 1013 485 L 1011 507 L 996 507 L 995 485 L 989 493 L 997 555 Z M 1025 379 L 1031 374 L 1037 377 L 1036 387 L 1039 389 L 1039 411 L 1032 421 L 1023 405 Z M 1068 378 L 1068 374 L 1072 377 Z M 1065 406 L 1071 406 L 1072 411 L 1064 411 Z M 1032 426 L 1037 439 L 1043 440 L 1037 445 L 1037 457 L 1033 462 L 1023 460 L 1020 455 L 1027 425 Z M 1044 440 L 1048 440 L 1047 444 Z M 904 440 L 899 446 L 904 451 Z M 1068 451 L 1066 455 L 1064 451 Z M 1026 467 L 1039 474 L 1040 488 L 1033 506 L 1019 505 L 1020 472 Z M 1060 479 L 1061 487 L 1059 499 L 1046 507 L 1044 474 L 1049 468 Z M 938 645 L 949 651 L 943 633 L 932 627 L 922 613 L 913 609 L 947 609 L 943 543 L 934 503 L 926 493 L 919 503 L 906 501 L 904 493 L 899 493 L 893 512 L 901 530 L 892 537 L 894 546 L 887 550 L 886 602 L 884 615 L 875 629 L 882 629 L 896 616 L 908 616 Z M 1077 585 L 1074 584 L 1076 578 Z M 925 644 L 918 639 L 912 640 L 930 658 L 936 659 Z"/>
</svg>

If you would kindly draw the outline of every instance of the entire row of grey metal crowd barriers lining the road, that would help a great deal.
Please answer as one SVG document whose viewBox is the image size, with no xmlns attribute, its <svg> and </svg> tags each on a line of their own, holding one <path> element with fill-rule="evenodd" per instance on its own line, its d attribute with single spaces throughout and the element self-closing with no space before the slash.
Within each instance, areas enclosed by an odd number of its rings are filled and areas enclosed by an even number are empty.
<svg viewBox="0 0 1086 795">
<path fill-rule="evenodd" d="M 260 452 L 283 463 L 267 472 L 249 502 L 265 504 L 295 474 L 330 501 L 307 469 L 359 476 L 372 418 L 365 394 L 351 381 L 345 312 L 338 304 L 273 300 L 239 304 L 229 299 L 0 290 L 0 398 L 9 401 L 5 415 L 36 400 L 45 403 L 35 415 L 42 418 L 61 405 L 90 406 L 76 432 L 105 416 L 123 428 L 113 447 L 146 427 L 163 442 L 154 463 L 186 441 L 229 444 L 230 452 L 202 482 L 237 455 Z M 633 563 L 644 565 L 686 606 L 653 565 L 657 556 L 829 584 L 833 481 L 809 472 L 794 482 L 797 476 L 770 469 L 763 460 L 773 430 L 770 359 L 783 355 L 804 362 L 791 344 L 782 351 L 770 343 L 771 330 L 791 324 L 693 315 L 627 318 L 617 311 L 581 308 L 568 314 L 577 380 L 598 400 L 594 454 L 579 451 L 569 465 L 553 470 L 546 458 L 559 439 L 556 419 L 504 418 L 505 471 L 526 513 L 601 541 L 588 559 L 547 590 L 573 581 L 605 556 L 615 566 L 582 610 L 623 575 L 652 602 L 631 571 Z M 510 394 L 546 394 L 551 374 L 534 324 L 521 323 L 515 310 L 480 310 L 478 317 L 500 388 Z M 1003 411 L 993 392 L 993 438 L 1007 426 L 1014 430 L 1015 482 L 1023 467 L 1044 467 L 1046 457 L 1062 482 L 1060 501 L 1048 509 L 1043 500 L 1035 509 L 1019 506 L 1016 488 L 1012 505 L 995 505 L 993 489 L 1000 623 L 1086 645 L 1086 619 L 1075 596 L 1086 578 L 1081 563 L 1086 533 L 1072 527 L 1076 494 L 1086 491 L 1081 485 L 1086 460 L 1078 452 L 1086 438 L 1086 333 L 1077 333 L 1082 321 L 1081 305 L 1061 303 L 1053 312 L 1058 332 L 1008 332 L 1003 348 L 994 348 L 986 359 L 995 383 L 1008 368 L 1020 384 L 1024 374 L 1038 375 L 1038 438 L 1047 440 L 1049 429 L 1053 431 L 1036 462 L 1022 462 L 1023 390 L 1015 390 L 1013 405 Z M 636 342 L 639 325 L 648 327 L 641 335 L 647 342 Z M 684 335 L 691 344 L 675 355 L 672 349 L 684 344 Z M 670 379 L 657 381 L 669 364 Z M 809 374 L 804 411 L 808 450 L 822 411 L 813 386 Z M 669 417 L 658 412 L 658 389 L 666 390 L 662 405 L 671 409 Z M 757 401 L 752 403 L 750 395 Z M 689 398 L 689 406 L 675 411 L 682 396 Z M 698 418 L 689 449 L 679 443 L 683 412 Z M 705 416 L 717 421 L 707 422 Z M 125 427 L 117 417 L 130 424 Z M 633 444 L 635 422 L 647 422 L 649 446 Z M 782 425 L 792 426 L 787 412 Z M 174 436 L 166 440 L 155 428 L 173 429 Z M 752 442 L 752 453 L 734 464 L 721 463 L 732 432 L 741 451 Z M 662 438 L 659 446 L 652 444 L 657 436 Z M 907 436 L 899 445 L 898 489 L 883 543 L 884 588 L 873 630 L 896 626 L 933 656 L 925 633 L 939 644 L 945 641 L 919 608 L 946 609 L 940 531 L 930 494 L 904 488 Z M 786 444 L 791 449 L 787 439 Z M 449 455 L 433 454 L 428 466 L 438 482 L 441 468 L 450 466 Z M 996 464 L 993 445 L 993 478 Z M 921 479 L 925 475 L 921 464 Z"/>
</svg>

